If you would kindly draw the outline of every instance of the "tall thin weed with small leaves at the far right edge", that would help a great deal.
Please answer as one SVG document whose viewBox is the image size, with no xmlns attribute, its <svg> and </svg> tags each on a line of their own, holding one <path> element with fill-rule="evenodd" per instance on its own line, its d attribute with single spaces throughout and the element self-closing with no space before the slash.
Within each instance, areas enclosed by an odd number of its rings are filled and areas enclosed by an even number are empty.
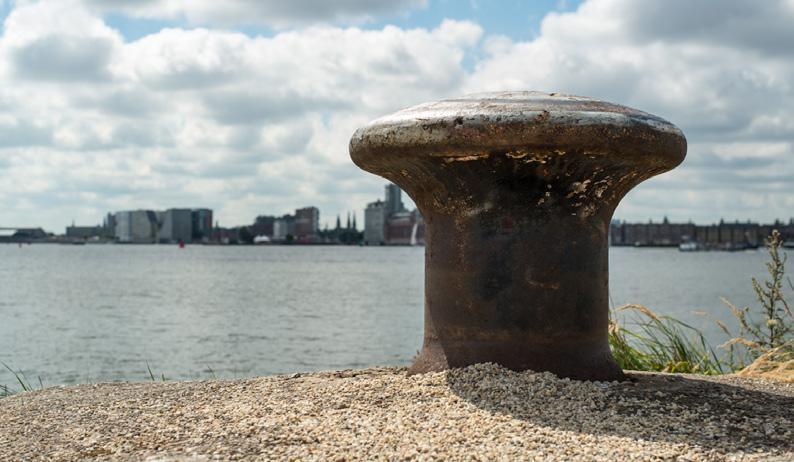
<svg viewBox="0 0 794 462">
<path fill-rule="evenodd" d="M 769 253 L 766 269 L 769 279 L 758 281 L 752 278 L 753 291 L 760 304 L 757 309 L 753 310 L 749 306 L 738 308 L 728 300 L 722 299 L 739 321 L 739 335 L 726 342 L 723 347 L 733 348 L 736 344 L 743 345 L 752 360 L 794 340 L 792 338 L 794 314 L 783 294 L 787 255 L 781 252 L 782 245 L 783 239 L 780 233 L 778 230 L 773 230 L 766 239 L 766 249 Z M 794 290 L 791 279 L 788 279 L 788 285 Z M 723 330 L 728 332 L 725 328 Z"/>
</svg>

